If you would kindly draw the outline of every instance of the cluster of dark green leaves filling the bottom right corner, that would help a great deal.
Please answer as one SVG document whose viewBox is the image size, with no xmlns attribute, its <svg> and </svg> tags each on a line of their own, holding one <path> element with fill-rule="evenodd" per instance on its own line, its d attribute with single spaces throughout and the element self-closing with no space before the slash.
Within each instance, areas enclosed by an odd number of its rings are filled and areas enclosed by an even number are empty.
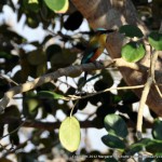
<svg viewBox="0 0 162 162">
<path fill-rule="evenodd" d="M 112 118 L 114 117 L 114 118 Z M 116 119 L 116 120 L 113 120 Z M 117 130 L 117 123 L 124 123 L 124 120 L 117 114 L 108 114 L 105 118 L 105 125 L 110 125 L 111 130 L 116 132 Z M 110 123 L 110 124 L 109 124 Z M 127 132 L 127 127 L 125 126 L 125 123 L 122 125 L 122 129 L 118 130 L 118 134 L 123 134 L 123 132 Z M 102 137 L 105 145 L 112 149 L 117 149 L 120 151 L 121 157 L 119 160 L 122 160 L 123 157 L 135 157 L 136 152 L 143 152 L 143 150 L 146 150 L 148 154 L 143 157 L 144 161 L 147 161 L 149 159 L 156 160 L 158 156 L 161 154 L 162 151 L 162 140 L 161 140 L 161 132 L 160 127 L 162 126 L 162 121 L 160 119 L 156 119 L 153 123 L 152 134 L 154 135 L 154 138 L 143 138 L 140 140 L 135 140 L 133 144 L 125 146 L 126 143 L 126 136 L 124 138 L 119 138 L 119 135 L 111 135 L 111 133 L 108 131 L 108 135 L 105 135 Z M 107 127 L 107 126 L 106 126 Z M 112 132 L 111 131 L 111 132 Z M 149 153 L 152 154 L 149 154 Z"/>
</svg>

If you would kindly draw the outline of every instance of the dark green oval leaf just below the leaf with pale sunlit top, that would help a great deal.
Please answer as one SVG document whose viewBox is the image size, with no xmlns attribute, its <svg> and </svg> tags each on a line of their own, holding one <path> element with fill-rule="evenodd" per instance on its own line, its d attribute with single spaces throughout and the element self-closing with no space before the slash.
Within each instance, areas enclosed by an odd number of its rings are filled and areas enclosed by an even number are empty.
<svg viewBox="0 0 162 162">
<path fill-rule="evenodd" d="M 113 136 L 113 135 L 105 135 L 102 137 L 103 143 L 110 147 L 110 148 L 118 148 L 118 149 L 124 149 L 125 144 L 123 140 L 121 140 L 119 137 Z"/>
</svg>

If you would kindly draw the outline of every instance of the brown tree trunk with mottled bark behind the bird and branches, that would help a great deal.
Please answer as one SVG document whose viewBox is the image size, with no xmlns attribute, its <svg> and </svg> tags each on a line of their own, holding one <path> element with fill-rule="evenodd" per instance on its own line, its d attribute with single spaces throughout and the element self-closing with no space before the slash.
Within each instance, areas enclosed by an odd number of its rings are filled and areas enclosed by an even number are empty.
<svg viewBox="0 0 162 162">
<path fill-rule="evenodd" d="M 149 30 L 144 23 L 138 18 L 136 9 L 131 0 L 71 0 L 76 8 L 87 19 L 90 26 L 95 29 L 104 27 L 107 29 L 119 28 L 122 25 L 131 24 L 138 26 L 144 35 Z M 125 43 L 125 39 L 119 32 L 110 33 L 107 41 L 107 51 L 112 58 L 121 57 L 121 48 Z M 162 53 L 161 53 L 162 55 Z M 146 67 L 150 66 L 150 52 L 146 46 L 146 56 L 138 63 Z M 162 82 L 162 77 L 158 75 L 158 70 L 162 67 L 161 62 L 157 63 L 156 80 L 158 83 Z M 127 85 L 145 84 L 148 71 L 139 72 L 130 68 L 119 68 L 123 79 Z M 135 90 L 134 92 L 140 98 L 143 90 Z M 159 96 L 157 90 L 152 86 L 147 98 L 147 105 L 158 116 L 162 116 L 162 98 Z"/>
</svg>

